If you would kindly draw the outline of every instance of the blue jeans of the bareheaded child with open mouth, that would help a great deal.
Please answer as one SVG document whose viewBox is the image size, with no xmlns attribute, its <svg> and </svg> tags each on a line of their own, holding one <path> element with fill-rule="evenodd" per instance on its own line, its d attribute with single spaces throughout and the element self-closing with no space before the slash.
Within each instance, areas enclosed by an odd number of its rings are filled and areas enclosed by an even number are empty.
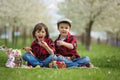
<svg viewBox="0 0 120 80">
<path fill-rule="evenodd" d="M 48 67 L 49 63 L 53 59 L 57 60 L 57 57 L 54 54 L 50 54 L 49 57 L 47 57 L 45 60 L 38 59 L 38 58 L 32 56 L 30 53 L 25 53 L 23 55 L 23 60 L 27 61 L 33 67 L 35 67 L 36 65 L 40 65 L 41 67 Z"/>
</svg>

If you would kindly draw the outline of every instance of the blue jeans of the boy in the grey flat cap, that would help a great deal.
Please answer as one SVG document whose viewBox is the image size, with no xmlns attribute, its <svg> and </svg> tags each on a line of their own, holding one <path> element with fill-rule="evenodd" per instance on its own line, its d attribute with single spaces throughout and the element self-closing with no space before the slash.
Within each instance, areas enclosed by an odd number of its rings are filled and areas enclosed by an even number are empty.
<svg viewBox="0 0 120 80">
<path fill-rule="evenodd" d="M 89 65 L 90 59 L 89 57 L 82 57 L 82 58 L 75 58 L 72 61 L 68 60 L 64 56 L 58 56 L 58 61 L 64 61 L 67 65 L 67 67 L 81 67 L 82 65 Z"/>
</svg>

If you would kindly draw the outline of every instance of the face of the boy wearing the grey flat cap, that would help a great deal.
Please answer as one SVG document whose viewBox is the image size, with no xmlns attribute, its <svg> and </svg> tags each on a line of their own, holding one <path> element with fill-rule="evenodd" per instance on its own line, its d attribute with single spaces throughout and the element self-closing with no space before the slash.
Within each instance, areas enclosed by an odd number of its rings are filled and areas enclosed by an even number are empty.
<svg viewBox="0 0 120 80">
<path fill-rule="evenodd" d="M 60 23 L 58 30 L 60 32 L 61 37 L 66 37 L 70 31 L 70 26 L 67 23 Z"/>
</svg>

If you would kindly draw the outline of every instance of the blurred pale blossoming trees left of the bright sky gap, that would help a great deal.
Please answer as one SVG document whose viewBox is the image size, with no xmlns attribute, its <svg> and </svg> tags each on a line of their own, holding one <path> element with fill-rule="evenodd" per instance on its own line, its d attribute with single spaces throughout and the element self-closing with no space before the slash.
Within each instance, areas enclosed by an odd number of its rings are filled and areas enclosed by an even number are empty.
<svg viewBox="0 0 120 80">
<path fill-rule="evenodd" d="M 42 0 L 0 0 L 0 34 L 4 33 L 14 48 L 21 34 L 23 44 L 26 45 L 26 38 L 31 36 L 35 24 L 45 22 L 51 26 L 51 16 L 48 14 Z"/>
</svg>

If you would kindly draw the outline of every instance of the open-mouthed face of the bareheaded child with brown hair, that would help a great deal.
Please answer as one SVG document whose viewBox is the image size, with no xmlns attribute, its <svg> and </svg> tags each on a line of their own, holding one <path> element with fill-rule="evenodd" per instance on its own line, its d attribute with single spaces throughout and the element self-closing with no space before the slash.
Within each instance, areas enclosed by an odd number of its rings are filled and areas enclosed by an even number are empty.
<svg viewBox="0 0 120 80">
<path fill-rule="evenodd" d="M 35 32 L 35 36 L 37 38 L 38 41 L 42 41 L 44 40 L 45 36 L 46 36 L 46 31 L 44 28 L 42 28 L 41 30 L 37 30 Z"/>
</svg>

